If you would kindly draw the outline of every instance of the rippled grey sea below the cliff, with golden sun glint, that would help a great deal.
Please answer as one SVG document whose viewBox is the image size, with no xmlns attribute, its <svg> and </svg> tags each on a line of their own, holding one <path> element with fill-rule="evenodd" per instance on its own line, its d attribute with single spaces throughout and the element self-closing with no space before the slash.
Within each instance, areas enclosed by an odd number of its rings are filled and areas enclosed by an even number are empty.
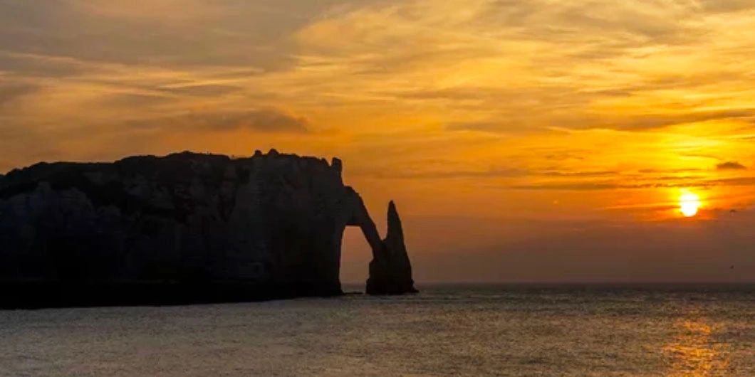
<svg viewBox="0 0 755 377">
<path fill-rule="evenodd" d="M 0 311 L 0 375 L 755 375 L 753 286 Z"/>
</svg>

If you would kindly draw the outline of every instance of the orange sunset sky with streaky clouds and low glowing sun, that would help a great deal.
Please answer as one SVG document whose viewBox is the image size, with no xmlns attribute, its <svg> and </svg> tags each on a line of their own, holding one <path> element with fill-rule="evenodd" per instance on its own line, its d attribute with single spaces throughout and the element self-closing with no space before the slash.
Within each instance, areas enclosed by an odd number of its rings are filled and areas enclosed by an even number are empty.
<svg viewBox="0 0 755 377">
<path fill-rule="evenodd" d="M 337 156 L 420 283 L 755 281 L 753 56 L 755 0 L 0 0 L 0 172 Z"/>
</svg>

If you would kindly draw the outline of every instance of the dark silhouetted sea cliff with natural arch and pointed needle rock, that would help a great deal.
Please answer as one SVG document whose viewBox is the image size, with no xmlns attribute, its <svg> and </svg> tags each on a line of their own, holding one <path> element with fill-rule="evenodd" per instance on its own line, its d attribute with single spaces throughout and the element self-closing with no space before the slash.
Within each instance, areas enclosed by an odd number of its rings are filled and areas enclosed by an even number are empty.
<svg viewBox="0 0 755 377">
<path fill-rule="evenodd" d="M 274 150 L 14 170 L 0 177 L 0 306 L 340 294 L 348 225 L 372 247 L 368 293 L 414 292 L 396 207 L 381 240 L 341 170 Z"/>
</svg>

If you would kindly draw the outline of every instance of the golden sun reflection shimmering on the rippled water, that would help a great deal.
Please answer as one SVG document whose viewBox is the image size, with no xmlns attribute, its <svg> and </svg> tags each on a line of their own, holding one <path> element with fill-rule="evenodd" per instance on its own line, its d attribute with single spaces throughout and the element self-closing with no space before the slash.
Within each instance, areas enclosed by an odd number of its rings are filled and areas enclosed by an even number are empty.
<svg viewBox="0 0 755 377">
<path fill-rule="evenodd" d="M 726 375 L 727 345 L 716 342 L 715 326 L 702 319 L 684 319 L 675 324 L 676 336 L 664 345 L 670 376 Z"/>
</svg>

